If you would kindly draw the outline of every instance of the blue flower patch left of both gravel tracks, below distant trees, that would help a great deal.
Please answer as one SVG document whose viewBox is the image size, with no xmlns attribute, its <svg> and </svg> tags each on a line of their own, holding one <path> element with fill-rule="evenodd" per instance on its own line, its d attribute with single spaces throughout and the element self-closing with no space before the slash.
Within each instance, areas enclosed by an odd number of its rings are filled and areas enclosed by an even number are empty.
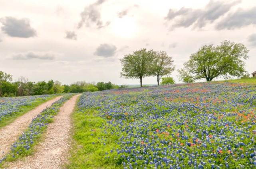
<svg viewBox="0 0 256 169">
<path fill-rule="evenodd" d="M 37 99 L 47 99 L 52 95 L 36 95 L 24 97 L 0 98 L 0 122 L 5 117 L 10 117 L 20 111 L 22 106 L 30 106 Z"/>
</svg>

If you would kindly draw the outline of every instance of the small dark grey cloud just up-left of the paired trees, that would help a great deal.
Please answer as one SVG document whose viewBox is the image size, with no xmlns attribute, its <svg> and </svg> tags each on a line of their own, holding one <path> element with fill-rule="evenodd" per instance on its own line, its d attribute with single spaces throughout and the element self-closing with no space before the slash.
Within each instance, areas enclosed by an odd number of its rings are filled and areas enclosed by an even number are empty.
<svg viewBox="0 0 256 169">
<path fill-rule="evenodd" d="M 117 51 L 117 47 L 115 45 L 103 43 L 97 47 L 96 51 L 94 52 L 97 56 L 103 56 L 105 58 L 114 56 L 115 52 Z"/>
</svg>

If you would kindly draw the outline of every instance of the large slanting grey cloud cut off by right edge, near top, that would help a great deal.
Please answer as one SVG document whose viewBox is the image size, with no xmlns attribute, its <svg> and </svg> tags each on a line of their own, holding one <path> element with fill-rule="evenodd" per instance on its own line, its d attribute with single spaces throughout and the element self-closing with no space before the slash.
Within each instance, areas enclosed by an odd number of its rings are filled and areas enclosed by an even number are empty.
<svg viewBox="0 0 256 169">
<path fill-rule="evenodd" d="M 216 25 L 216 29 L 235 29 L 251 24 L 256 25 L 256 7 L 247 10 L 238 9 L 222 19 Z"/>
</svg>

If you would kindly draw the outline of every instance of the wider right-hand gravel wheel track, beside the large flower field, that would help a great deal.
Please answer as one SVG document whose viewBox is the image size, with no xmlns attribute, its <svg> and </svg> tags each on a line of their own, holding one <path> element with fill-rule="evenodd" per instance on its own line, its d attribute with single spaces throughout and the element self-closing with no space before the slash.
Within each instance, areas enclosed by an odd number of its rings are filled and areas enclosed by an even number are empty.
<svg viewBox="0 0 256 169">
<path fill-rule="evenodd" d="M 71 129 L 70 115 L 77 97 L 71 97 L 60 108 L 54 122 L 48 125 L 43 142 L 36 146 L 34 155 L 10 163 L 9 169 L 60 169 L 67 162 Z"/>
</svg>

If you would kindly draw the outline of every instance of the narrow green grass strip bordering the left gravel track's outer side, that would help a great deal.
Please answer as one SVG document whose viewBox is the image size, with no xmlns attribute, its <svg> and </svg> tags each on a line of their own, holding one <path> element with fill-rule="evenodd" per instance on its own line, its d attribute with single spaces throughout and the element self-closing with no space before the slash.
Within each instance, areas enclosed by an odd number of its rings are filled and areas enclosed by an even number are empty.
<svg viewBox="0 0 256 169">
<path fill-rule="evenodd" d="M 20 107 L 19 111 L 16 112 L 16 113 L 13 113 L 12 116 L 8 116 L 6 118 L 3 118 L 1 120 L 1 123 L 0 123 L 0 128 L 3 128 L 4 126 L 12 123 L 16 118 L 24 115 L 25 113 L 28 113 L 28 111 L 31 111 L 32 109 L 34 109 L 35 107 L 41 105 L 42 103 L 46 102 L 46 101 L 49 101 L 51 99 L 54 99 L 56 97 L 58 97 L 59 95 L 52 95 L 51 97 L 48 97 L 48 98 L 38 98 L 36 99 L 35 101 L 33 101 L 31 103 L 31 105 L 26 105 L 26 106 L 22 106 Z"/>
</svg>

